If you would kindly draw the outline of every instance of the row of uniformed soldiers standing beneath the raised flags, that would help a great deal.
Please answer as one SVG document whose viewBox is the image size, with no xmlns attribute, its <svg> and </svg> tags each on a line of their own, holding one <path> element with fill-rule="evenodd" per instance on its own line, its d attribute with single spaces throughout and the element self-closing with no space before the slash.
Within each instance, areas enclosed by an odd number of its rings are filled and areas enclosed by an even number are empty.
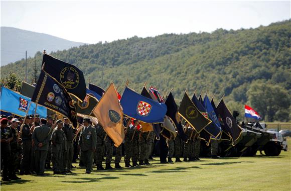
<svg viewBox="0 0 291 191">
<path fill-rule="evenodd" d="M 129 122 L 131 120 L 127 119 L 123 123 L 125 167 L 149 165 L 149 159 L 154 150 L 154 132 L 138 130 L 138 120 L 133 120 L 133 124 Z M 20 128 L 22 123 L 24 125 Z M 20 120 L 17 118 L 7 119 L 2 116 L 3 180 L 19 179 L 16 176 L 18 169 L 20 169 L 20 175 L 32 172 L 44 175 L 45 168 L 50 169 L 51 160 L 54 174 L 71 172 L 73 156 L 78 151 L 80 151 L 80 163 L 86 167 L 85 173 L 91 172 L 93 159 L 96 162 L 97 170 L 104 170 L 102 166 L 104 155 L 106 155 L 105 169 L 113 169 L 111 167 L 113 141 L 100 124 L 95 126 L 91 124 L 90 119 L 85 118 L 82 127 L 75 129 L 66 118 L 64 118 L 64 122 L 57 120 L 54 123 L 52 116 L 40 119 L 39 115 L 35 115 Z M 80 132 L 79 135 L 78 132 Z M 176 158 L 176 162 L 181 162 L 180 157 L 182 156 L 184 161 L 199 160 L 199 134 L 196 134 L 187 122 L 184 126 L 184 132 L 188 137 L 187 142 L 182 141 L 179 136 L 174 137 L 173 135 L 167 139 L 169 163 L 173 163 L 173 157 Z M 78 149 L 74 145 L 78 145 Z M 212 143 L 212 145 L 216 144 Z M 212 148 L 212 153 L 215 153 L 215 149 Z M 121 157 L 122 145 L 115 148 L 115 168 L 122 168 L 119 164 Z M 11 163 L 11 161 L 13 162 Z"/>
</svg>

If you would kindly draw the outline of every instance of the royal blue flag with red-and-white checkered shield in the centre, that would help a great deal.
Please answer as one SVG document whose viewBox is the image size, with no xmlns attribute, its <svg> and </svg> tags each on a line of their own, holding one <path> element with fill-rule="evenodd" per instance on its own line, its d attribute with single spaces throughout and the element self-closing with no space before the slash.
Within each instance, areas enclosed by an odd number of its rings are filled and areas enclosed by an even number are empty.
<svg viewBox="0 0 291 191">
<path fill-rule="evenodd" d="M 163 123 L 167 106 L 141 96 L 132 89 L 125 87 L 120 105 L 123 113 L 145 123 Z"/>
</svg>

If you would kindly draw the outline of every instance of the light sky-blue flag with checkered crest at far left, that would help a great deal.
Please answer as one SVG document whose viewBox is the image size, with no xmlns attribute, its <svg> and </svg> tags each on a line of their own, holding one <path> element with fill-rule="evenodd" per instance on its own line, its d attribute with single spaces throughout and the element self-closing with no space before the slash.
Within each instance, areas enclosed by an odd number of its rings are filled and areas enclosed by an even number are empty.
<svg viewBox="0 0 291 191">
<path fill-rule="evenodd" d="M 30 108 L 29 105 L 31 104 Z M 29 108 L 28 115 L 35 114 L 36 104 L 31 103 L 31 99 L 17 93 L 4 86 L 1 87 L 1 110 L 9 112 L 17 116 L 24 117 Z M 37 114 L 42 118 L 47 117 L 47 109 L 45 107 L 37 107 Z"/>
</svg>

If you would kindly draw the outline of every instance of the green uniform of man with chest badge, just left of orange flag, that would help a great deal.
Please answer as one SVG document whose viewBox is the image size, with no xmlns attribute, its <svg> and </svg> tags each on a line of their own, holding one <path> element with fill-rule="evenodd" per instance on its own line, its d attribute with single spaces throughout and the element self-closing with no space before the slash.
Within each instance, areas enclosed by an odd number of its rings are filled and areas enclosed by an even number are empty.
<svg viewBox="0 0 291 191">
<path fill-rule="evenodd" d="M 81 147 L 81 157 L 84 165 L 86 166 L 86 173 L 92 170 L 93 150 L 96 149 L 96 130 L 89 125 L 83 127 L 79 138 L 79 146 Z"/>
</svg>

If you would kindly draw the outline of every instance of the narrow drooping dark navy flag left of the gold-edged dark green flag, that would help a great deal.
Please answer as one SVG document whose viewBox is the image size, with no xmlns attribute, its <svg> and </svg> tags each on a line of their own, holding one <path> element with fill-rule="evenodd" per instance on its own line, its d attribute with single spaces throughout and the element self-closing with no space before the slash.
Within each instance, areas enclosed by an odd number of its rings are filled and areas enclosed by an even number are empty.
<svg viewBox="0 0 291 191">
<path fill-rule="evenodd" d="M 169 96 L 167 97 L 165 104 L 167 106 L 166 115 L 169 116 L 174 121 L 177 131 L 178 131 L 179 138 L 186 142 L 188 138 L 185 135 L 182 124 L 178 123 L 176 120 L 176 114 L 178 112 L 178 108 L 177 108 L 177 104 L 175 102 L 172 92 L 169 93 Z"/>
</svg>

